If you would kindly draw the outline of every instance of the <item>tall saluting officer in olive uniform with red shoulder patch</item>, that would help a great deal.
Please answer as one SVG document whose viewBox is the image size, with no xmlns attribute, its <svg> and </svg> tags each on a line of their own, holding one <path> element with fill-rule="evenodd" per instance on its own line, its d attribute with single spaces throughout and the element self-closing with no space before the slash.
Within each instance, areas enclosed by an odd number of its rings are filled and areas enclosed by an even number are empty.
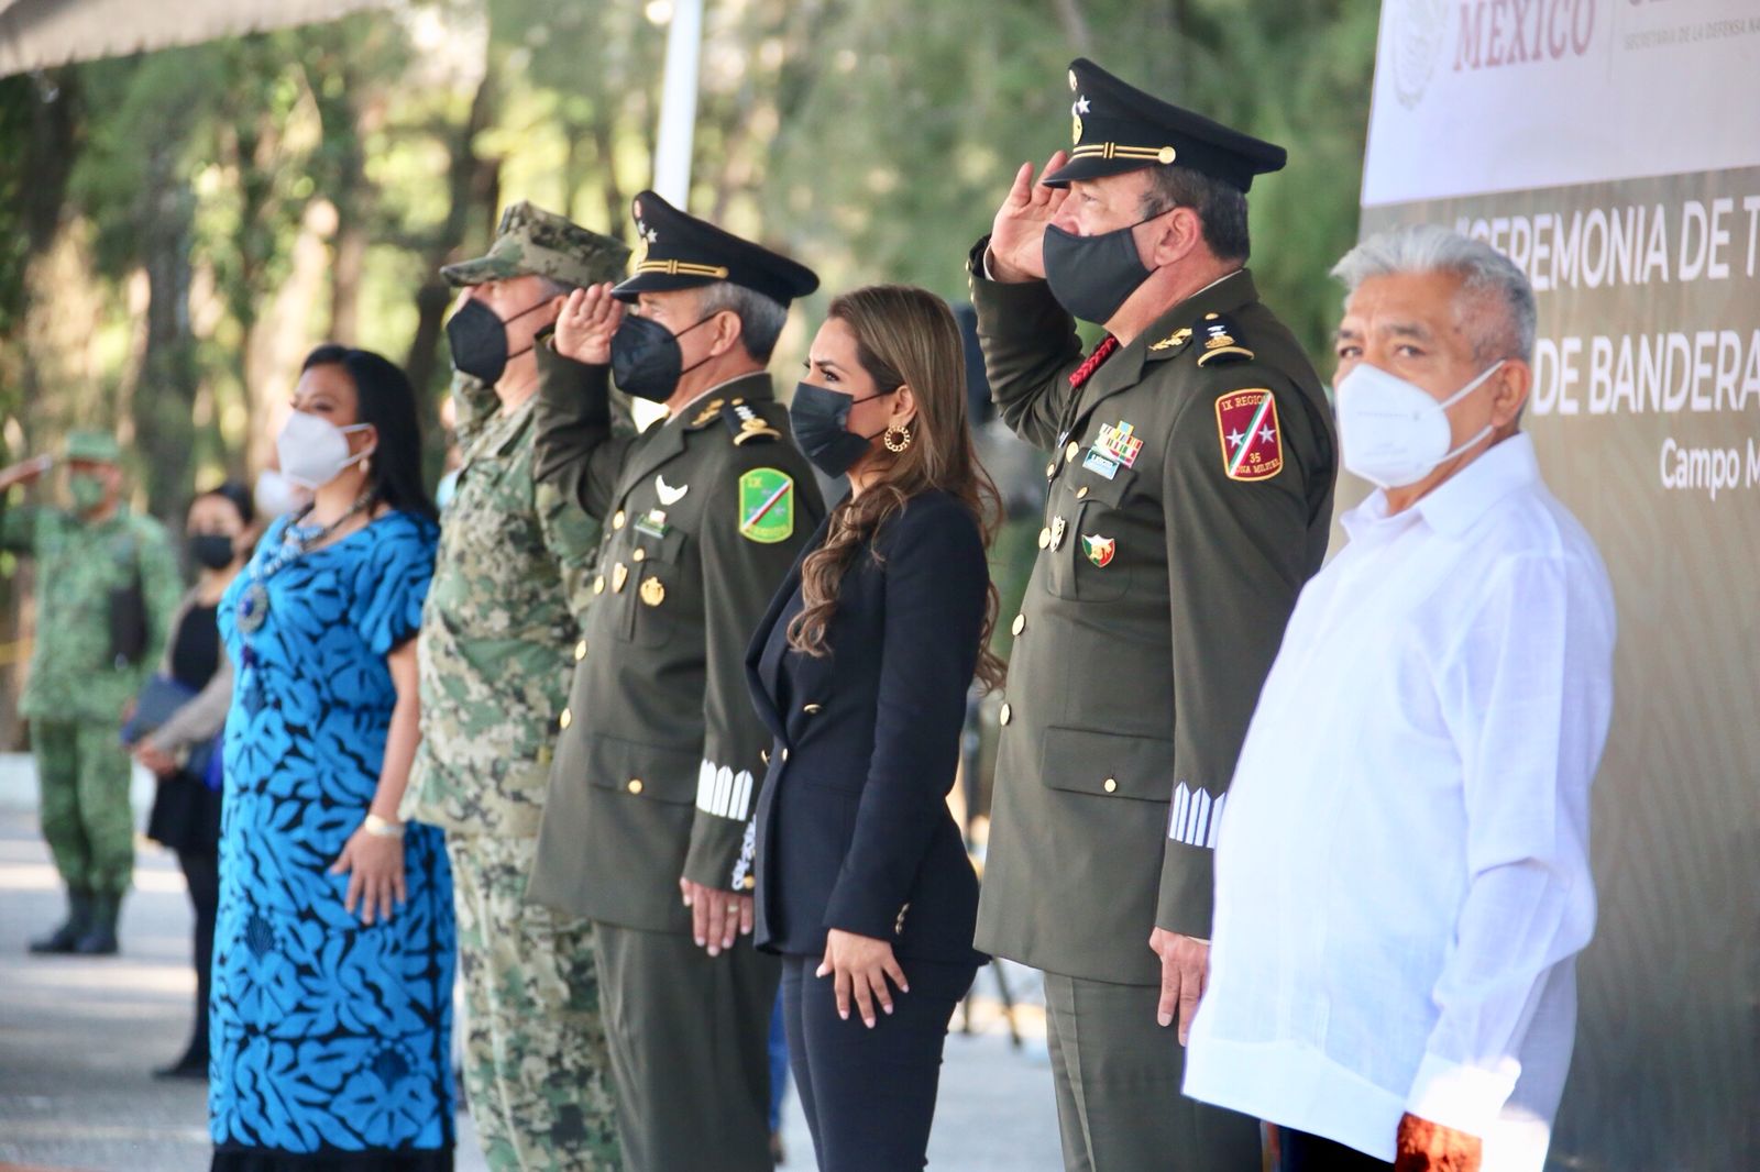
<svg viewBox="0 0 1760 1172">
<path fill-rule="evenodd" d="M 1068 83 L 1074 148 L 972 253 L 996 405 L 1052 449 L 977 945 L 1045 970 L 1068 1168 L 1248 1172 L 1255 1121 L 1181 1098 L 1179 1040 L 1236 753 L 1325 553 L 1331 414 L 1243 267 L 1285 151 L 1086 60 Z M 1072 317 L 1107 331 L 1086 359 Z"/>
</svg>

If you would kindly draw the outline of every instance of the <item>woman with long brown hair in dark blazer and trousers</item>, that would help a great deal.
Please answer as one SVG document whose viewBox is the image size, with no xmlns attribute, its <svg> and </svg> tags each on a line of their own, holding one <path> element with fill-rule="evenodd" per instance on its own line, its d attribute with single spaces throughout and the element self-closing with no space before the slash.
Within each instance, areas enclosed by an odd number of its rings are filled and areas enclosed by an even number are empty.
<svg viewBox="0 0 1760 1172">
<path fill-rule="evenodd" d="M 822 1172 L 922 1168 L 942 1044 L 984 956 L 977 876 L 947 809 L 973 676 L 1001 681 L 947 304 L 906 287 L 831 303 L 790 419 L 850 479 L 746 660 L 774 734 L 757 809 L 757 943 Z M 854 1017 L 852 1017 L 854 1014 Z"/>
</svg>

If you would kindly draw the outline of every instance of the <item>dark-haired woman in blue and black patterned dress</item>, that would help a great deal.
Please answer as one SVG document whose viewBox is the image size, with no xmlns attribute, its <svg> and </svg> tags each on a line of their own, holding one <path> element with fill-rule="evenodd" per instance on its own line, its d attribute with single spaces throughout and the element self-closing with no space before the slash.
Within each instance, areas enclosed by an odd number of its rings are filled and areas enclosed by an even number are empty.
<svg viewBox="0 0 1760 1172">
<path fill-rule="evenodd" d="M 319 347 L 276 443 L 313 489 L 220 605 L 225 732 L 209 1130 L 216 1172 L 452 1167 L 452 880 L 403 825 L 433 575 L 415 396 Z"/>
</svg>

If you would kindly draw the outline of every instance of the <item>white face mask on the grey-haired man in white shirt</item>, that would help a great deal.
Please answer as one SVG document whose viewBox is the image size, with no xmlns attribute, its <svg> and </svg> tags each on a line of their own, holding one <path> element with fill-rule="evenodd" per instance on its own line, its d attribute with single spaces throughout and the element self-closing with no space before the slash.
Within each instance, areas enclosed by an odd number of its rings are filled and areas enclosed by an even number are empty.
<svg viewBox="0 0 1760 1172">
<path fill-rule="evenodd" d="M 1338 442 L 1345 468 L 1376 487 L 1404 487 L 1427 477 L 1441 461 L 1473 447 L 1491 435 L 1491 424 L 1450 449 L 1448 408 L 1478 389 L 1500 366 L 1503 359 L 1438 403 L 1424 387 L 1399 375 L 1368 363 L 1359 364 L 1338 384 Z"/>
</svg>

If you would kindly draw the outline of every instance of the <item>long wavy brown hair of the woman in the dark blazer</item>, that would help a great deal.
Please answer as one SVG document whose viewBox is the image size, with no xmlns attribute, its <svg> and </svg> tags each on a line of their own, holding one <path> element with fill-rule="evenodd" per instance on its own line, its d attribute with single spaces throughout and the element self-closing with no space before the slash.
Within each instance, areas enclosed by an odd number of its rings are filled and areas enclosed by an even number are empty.
<svg viewBox="0 0 1760 1172">
<path fill-rule="evenodd" d="M 871 465 L 878 479 L 861 496 L 852 493 L 831 510 L 825 544 L 801 563 L 806 607 L 788 623 L 788 646 L 815 656 L 829 651 L 825 632 L 838 611 L 843 575 L 910 498 L 940 489 L 961 502 L 979 523 L 986 547 L 1001 517 L 996 486 L 972 449 L 964 347 L 947 303 L 912 285 L 869 285 L 832 301 L 829 317 L 855 334 L 855 357 L 876 391 L 910 385 L 917 415 L 906 426 L 908 447 L 903 452 L 875 449 L 869 459 L 878 461 Z M 878 553 L 871 556 L 880 560 Z M 991 582 L 977 669 L 986 688 L 1000 688 L 1005 674 L 989 646 L 1000 605 L 996 582 Z M 924 632 L 922 637 L 935 635 Z"/>
</svg>

